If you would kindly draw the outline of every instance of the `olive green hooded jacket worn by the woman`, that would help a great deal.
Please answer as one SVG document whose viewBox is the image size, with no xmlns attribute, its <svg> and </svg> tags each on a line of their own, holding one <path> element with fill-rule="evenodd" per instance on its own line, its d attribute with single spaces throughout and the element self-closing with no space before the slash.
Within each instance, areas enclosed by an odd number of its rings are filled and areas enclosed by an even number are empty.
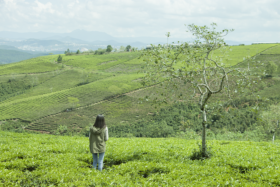
<svg viewBox="0 0 280 187">
<path fill-rule="evenodd" d="M 106 151 L 105 141 L 105 130 L 106 128 L 96 128 L 95 126 L 90 127 L 90 152 L 91 153 L 103 153 Z"/>
</svg>

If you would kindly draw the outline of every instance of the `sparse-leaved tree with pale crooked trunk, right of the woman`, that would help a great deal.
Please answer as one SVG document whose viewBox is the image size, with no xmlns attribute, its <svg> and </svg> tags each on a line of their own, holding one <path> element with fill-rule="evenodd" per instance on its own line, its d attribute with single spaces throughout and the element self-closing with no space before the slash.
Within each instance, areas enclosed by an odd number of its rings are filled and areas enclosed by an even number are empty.
<svg viewBox="0 0 280 187">
<path fill-rule="evenodd" d="M 140 57 L 145 65 L 143 68 L 146 67 L 145 76 L 142 79 L 143 86 L 164 87 L 164 90 L 167 91 L 151 92 L 140 102 L 145 98 L 148 101 L 152 95 L 154 95 L 155 104 L 174 101 L 175 96 L 178 96 L 179 99 L 192 97 L 192 99 L 198 100 L 202 116 L 201 148 L 204 153 L 207 149 L 206 110 L 208 99 L 221 92 L 228 97 L 228 101 L 232 101 L 233 95 L 236 95 L 239 90 L 244 92 L 245 88 L 249 88 L 250 94 L 254 95 L 252 85 L 257 82 L 255 82 L 256 77 L 253 76 L 257 66 L 241 69 L 226 64 L 228 47 L 222 37 L 233 30 L 224 29 L 222 32 L 217 32 L 215 26 L 217 26 L 216 23 L 212 23 L 210 28 L 194 24 L 187 25 L 187 32 L 193 34 L 195 42 L 178 43 L 178 45 L 152 45 L 151 50 L 140 52 Z M 169 33 L 166 36 L 169 37 Z M 250 57 L 247 60 L 253 61 Z M 156 91 L 158 92 L 159 89 Z M 163 97 L 161 100 L 157 98 L 160 95 Z"/>
</svg>

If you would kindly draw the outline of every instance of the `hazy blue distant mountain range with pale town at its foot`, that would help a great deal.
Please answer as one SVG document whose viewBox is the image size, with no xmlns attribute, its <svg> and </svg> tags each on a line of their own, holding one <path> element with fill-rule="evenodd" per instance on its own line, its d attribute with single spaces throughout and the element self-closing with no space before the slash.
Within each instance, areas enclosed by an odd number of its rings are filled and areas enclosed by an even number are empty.
<svg viewBox="0 0 280 187">
<path fill-rule="evenodd" d="M 177 43 L 192 42 L 191 38 L 169 38 L 168 42 Z M 70 33 L 47 33 L 47 32 L 29 32 L 18 33 L 10 31 L 0 31 L 0 45 L 14 46 L 26 52 L 42 52 L 42 51 L 65 51 L 68 48 L 70 51 L 77 51 L 78 49 L 96 50 L 98 48 L 106 48 L 111 45 L 113 48 L 120 48 L 120 46 L 130 45 L 132 47 L 141 49 L 150 44 L 165 44 L 167 38 L 163 37 L 113 37 L 104 32 L 74 30 Z M 229 45 L 245 44 L 250 45 L 251 42 L 243 41 L 225 41 Z"/>
</svg>

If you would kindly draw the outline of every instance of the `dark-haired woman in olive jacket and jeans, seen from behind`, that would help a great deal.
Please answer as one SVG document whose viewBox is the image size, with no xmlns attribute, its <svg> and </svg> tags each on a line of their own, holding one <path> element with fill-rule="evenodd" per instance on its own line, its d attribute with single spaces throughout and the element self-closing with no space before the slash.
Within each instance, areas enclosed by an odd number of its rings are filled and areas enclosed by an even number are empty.
<svg viewBox="0 0 280 187">
<path fill-rule="evenodd" d="M 98 162 L 98 170 L 102 171 L 103 158 L 106 151 L 106 141 L 108 140 L 108 128 L 105 118 L 102 114 L 96 116 L 93 126 L 90 127 L 90 152 L 93 157 L 92 167 L 96 169 Z"/>
</svg>

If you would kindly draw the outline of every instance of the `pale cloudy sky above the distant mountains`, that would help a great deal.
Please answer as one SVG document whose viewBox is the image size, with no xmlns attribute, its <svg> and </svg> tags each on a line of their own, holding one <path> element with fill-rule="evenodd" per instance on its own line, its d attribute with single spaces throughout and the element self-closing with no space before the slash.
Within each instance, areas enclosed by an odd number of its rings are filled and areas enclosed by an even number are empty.
<svg viewBox="0 0 280 187">
<path fill-rule="evenodd" d="M 0 31 L 188 38 L 185 24 L 214 22 L 235 29 L 227 40 L 279 42 L 279 7 L 280 0 L 0 0 Z"/>
</svg>

